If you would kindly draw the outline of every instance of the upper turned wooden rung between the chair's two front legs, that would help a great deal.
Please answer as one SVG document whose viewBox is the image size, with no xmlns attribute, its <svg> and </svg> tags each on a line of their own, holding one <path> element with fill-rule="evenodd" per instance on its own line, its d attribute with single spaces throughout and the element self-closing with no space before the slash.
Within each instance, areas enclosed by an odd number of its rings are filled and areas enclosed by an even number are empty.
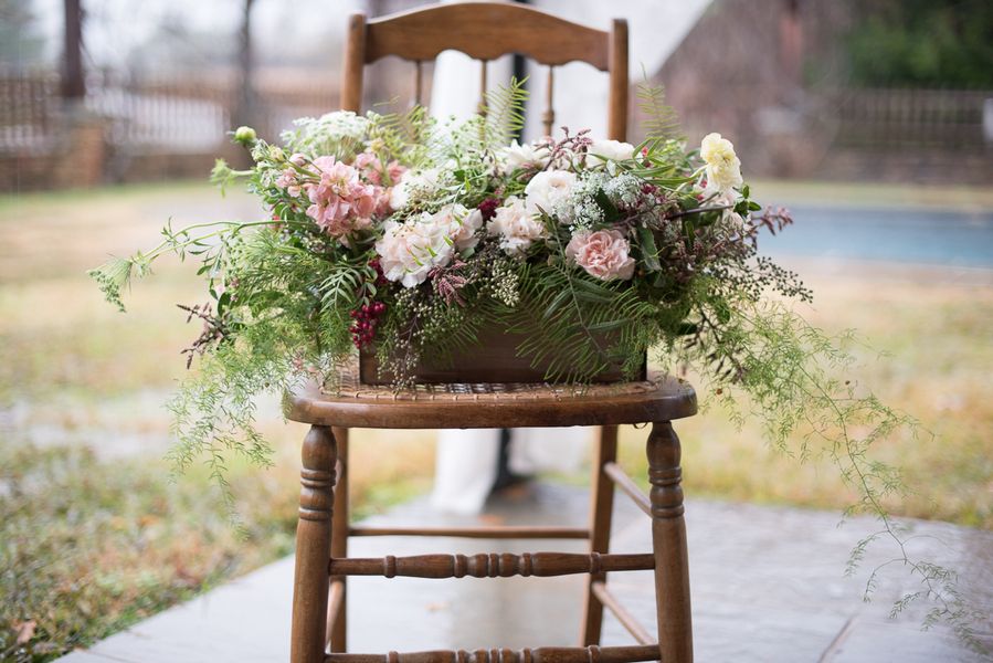
<svg viewBox="0 0 993 663">
<path fill-rule="evenodd" d="M 655 557 L 599 552 L 490 552 L 480 555 L 418 555 L 413 557 L 335 557 L 331 576 L 409 576 L 415 578 L 508 578 L 510 576 L 568 576 L 655 568 Z"/>
</svg>

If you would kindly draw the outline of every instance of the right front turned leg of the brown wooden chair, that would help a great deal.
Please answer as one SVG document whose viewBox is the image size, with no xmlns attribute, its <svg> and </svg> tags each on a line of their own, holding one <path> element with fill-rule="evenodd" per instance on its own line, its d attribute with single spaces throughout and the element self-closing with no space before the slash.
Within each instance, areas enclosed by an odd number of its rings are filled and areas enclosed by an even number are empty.
<svg viewBox="0 0 993 663">
<path fill-rule="evenodd" d="M 690 663 L 693 624 L 680 485 L 683 470 L 679 467 L 679 438 L 670 422 L 652 424 L 647 454 L 659 655 L 666 663 Z"/>
</svg>

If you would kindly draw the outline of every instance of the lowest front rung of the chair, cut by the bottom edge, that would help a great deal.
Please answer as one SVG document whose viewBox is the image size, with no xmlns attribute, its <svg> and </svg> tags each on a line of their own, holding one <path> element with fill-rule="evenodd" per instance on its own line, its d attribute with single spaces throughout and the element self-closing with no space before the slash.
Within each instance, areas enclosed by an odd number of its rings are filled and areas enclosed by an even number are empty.
<svg viewBox="0 0 993 663">
<path fill-rule="evenodd" d="M 657 661 L 658 645 L 539 646 L 509 650 L 437 650 L 388 654 L 326 654 L 325 663 L 634 663 Z"/>
</svg>

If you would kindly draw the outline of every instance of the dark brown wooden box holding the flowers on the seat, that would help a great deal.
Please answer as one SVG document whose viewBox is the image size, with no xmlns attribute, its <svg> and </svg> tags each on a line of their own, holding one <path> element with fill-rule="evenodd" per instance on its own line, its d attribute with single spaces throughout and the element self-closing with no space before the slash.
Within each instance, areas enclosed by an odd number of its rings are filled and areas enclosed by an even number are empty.
<svg viewBox="0 0 993 663">
<path fill-rule="evenodd" d="M 446 362 L 425 361 L 414 373 L 422 383 L 486 383 L 486 382 L 546 382 L 548 365 L 531 367 L 530 357 L 518 357 L 517 346 L 524 340 L 522 334 L 513 334 L 504 328 L 494 328 L 478 334 L 479 344 L 456 351 Z M 376 349 L 359 352 L 359 380 L 365 385 L 389 385 L 390 376 L 378 375 L 379 362 Z M 644 380 L 646 362 L 634 379 Z M 621 366 L 611 366 L 594 379 L 595 382 L 620 382 L 624 380 Z"/>
</svg>

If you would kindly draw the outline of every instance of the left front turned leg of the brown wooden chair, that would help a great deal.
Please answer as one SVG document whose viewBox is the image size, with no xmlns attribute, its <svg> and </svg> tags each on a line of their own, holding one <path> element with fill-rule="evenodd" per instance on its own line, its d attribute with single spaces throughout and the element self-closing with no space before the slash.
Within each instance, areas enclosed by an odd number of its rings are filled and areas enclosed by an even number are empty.
<svg viewBox="0 0 993 663">
<path fill-rule="evenodd" d="M 331 429 L 310 427 L 304 438 L 300 512 L 296 528 L 290 663 L 323 663 L 328 609 L 328 550 L 335 502 L 337 448 Z"/>
</svg>

